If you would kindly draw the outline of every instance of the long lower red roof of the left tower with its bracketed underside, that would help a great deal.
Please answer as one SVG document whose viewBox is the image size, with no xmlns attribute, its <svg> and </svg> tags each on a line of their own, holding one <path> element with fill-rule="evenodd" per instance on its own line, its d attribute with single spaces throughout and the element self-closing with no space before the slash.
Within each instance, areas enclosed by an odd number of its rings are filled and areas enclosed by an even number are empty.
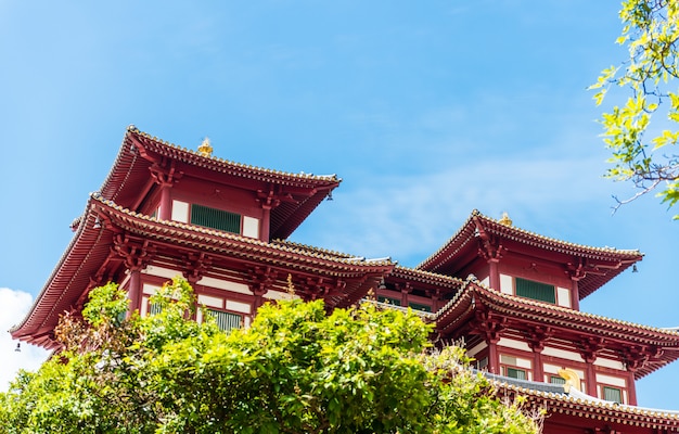
<svg viewBox="0 0 679 434">
<path fill-rule="evenodd" d="M 92 199 L 74 241 L 12 336 L 51 347 L 59 317 L 81 308 L 90 289 L 119 278 L 129 267 L 129 258 L 121 256 L 126 251 L 141 254 L 144 267 L 200 269 L 201 277 L 285 288 L 290 275 L 297 295 L 323 298 L 330 308 L 356 303 L 394 267 L 306 256 L 239 235 L 151 220 Z"/>
</svg>

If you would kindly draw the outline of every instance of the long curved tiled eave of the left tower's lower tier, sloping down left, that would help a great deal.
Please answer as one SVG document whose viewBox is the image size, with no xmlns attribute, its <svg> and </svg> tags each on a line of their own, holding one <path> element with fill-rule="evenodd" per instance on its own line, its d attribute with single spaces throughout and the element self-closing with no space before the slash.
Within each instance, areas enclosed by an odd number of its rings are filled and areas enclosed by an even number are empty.
<svg viewBox="0 0 679 434">
<path fill-rule="evenodd" d="M 100 224 L 98 217 L 101 217 Z M 106 227 L 107 225 L 111 227 Z M 376 281 L 394 267 L 388 260 L 354 263 L 321 252 L 309 253 L 295 246 L 264 243 L 192 225 L 158 221 L 131 213 L 102 197 L 92 196 L 74 239 L 48 282 L 24 320 L 10 331 L 13 339 L 48 348 L 55 347 L 52 334 L 59 318 L 76 306 L 90 285 L 90 279 L 108 258 L 113 245 L 112 229 L 168 245 L 213 252 L 217 256 L 268 264 L 315 276 L 355 279 L 359 283 L 348 290 L 357 294 L 368 291 L 367 285 L 373 284 L 373 280 Z M 372 278 L 361 280 L 367 276 Z"/>
</svg>

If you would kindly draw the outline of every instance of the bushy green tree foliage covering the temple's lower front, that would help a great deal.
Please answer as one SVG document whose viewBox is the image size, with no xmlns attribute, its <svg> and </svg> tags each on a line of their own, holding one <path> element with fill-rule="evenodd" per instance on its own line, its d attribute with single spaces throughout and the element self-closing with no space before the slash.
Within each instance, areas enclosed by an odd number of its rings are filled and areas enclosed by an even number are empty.
<svg viewBox="0 0 679 434">
<path fill-rule="evenodd" d="M 292 297 L 291 297 L 292 298 Z M 197 323 L 176 279 L 128 319 L 95 289 L 63 318 L 63 350 L 0 395 L 4 433 L 537 433 L 459 348 L 430 348 L 413 312 L 322 302 L 262 306 L 248 329 Z"/>
</svg>

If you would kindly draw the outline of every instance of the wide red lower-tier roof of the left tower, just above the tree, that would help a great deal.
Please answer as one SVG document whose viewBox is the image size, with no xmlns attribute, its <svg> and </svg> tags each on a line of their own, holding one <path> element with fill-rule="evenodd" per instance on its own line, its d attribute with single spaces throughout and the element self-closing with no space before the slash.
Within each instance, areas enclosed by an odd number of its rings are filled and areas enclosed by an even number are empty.
<svg viewBox="0 0 679 434">
<path fill-rule="evenodd" d="M 303 248 L 294 243 L 266 243 L 256 239 L 132 213 L 111 201 L 93 195 L 76 233 L 56 265 L 24 321 L 12 330 L 14 339 L 37 345 L 53 346 L 53 333 L 60 316 L 73 309 L 93 285 L 92 278 L 108 261 L 119 260 L 112 255 L 116 233 L 144 243 L 158 260 L 182 269 L 182 254 L 206 252 L 214 266 L 223 266 L 234 272 L 247 267 L 270 267 L 282 278 L 293 275 L 300 283 L 296 290 L 304 294 L 304 279 L 315 283 L 342 282 L 334 292 L 322 294 L 330 306 L 348 305 L 374 288 L 394 264 L 388 260 L 355 260 L 322 250 Z M 283 276 L 284 275 L 284 276 Z M 302 280 L 300 280 L 302 279 Z M 297 282 L 295 282 L 297 283 Z"/>
</svg>

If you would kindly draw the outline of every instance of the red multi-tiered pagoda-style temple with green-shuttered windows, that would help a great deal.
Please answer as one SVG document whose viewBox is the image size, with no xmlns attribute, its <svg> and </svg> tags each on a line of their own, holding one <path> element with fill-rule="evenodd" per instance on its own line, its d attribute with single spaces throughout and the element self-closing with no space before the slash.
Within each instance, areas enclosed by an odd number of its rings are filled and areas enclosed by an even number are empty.
<svg viewBox="0 0 679 434">
<path fill-rule="evenodd" d="M 74 239 L 12 336 L 57 349 L 54 327 L 91 289 L 114 281 L 130 311 L 183 276 L 225 330 L 285 295 L 345 307 L 377 303 L 435 322 L 438 345 L 464 343 L 499 393 L 548 411 L 546 433 L 672 433 L 679 412 L 637 407 L 635 381 L 679 358 L 679 332 L 579 310 L 579 301 L 642 259 L 541 237 L 473 212 L 415 268 L 286 239 L 340 186 L 336 176 L 287 174 L 164 142 L 129 127 Z M 201 320 L 201 318 L 197 318 Z"/>
</svg>

